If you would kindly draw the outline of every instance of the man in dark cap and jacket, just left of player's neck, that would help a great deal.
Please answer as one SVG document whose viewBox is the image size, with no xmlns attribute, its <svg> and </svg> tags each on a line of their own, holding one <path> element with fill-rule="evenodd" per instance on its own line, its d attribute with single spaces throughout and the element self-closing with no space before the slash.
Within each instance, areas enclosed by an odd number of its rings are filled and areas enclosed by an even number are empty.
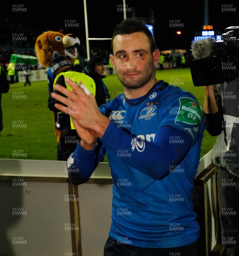
<svg viewBox="0 0 239 256">
<path fill-rule="evenodd" d="M 93 56 L 89 59 L 88 65 L 83 69 L 83 73 L 94 79 L 96 85 L 95 99 L 98 106 L 108 103 L 111 100 L 108 89 L 102 80 L 105 78 L 105 65 L 108 64 L 101 57 Z"/>
</svg>

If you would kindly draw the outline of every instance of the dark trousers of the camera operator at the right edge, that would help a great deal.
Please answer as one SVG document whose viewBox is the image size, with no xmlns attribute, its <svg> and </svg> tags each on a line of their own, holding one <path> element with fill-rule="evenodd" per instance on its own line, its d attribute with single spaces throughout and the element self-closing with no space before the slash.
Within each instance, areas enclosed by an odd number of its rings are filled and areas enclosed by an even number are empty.
<svg viewBox="0 0 239 256">
<path fill-rule="evenodd" d="M 239 256 L 239 177 L 219 167 L 217 187 L 222 244 L 226 256 Z"/>
</svg>

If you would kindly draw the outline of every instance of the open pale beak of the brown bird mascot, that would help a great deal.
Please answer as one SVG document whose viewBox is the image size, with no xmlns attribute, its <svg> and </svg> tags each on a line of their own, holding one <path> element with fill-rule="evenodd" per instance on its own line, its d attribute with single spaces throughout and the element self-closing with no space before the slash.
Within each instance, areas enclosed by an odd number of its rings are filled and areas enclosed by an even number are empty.
<svg viewBox="0 0 239 256">
<path fill-rule="evenodd" d="M 65 56 L 76 59 L 78 55 L 77 47 L 80 45 L 80 39 L 73 34 L 65 35 L 62 39 L 65 47 Z"/>
</svg>

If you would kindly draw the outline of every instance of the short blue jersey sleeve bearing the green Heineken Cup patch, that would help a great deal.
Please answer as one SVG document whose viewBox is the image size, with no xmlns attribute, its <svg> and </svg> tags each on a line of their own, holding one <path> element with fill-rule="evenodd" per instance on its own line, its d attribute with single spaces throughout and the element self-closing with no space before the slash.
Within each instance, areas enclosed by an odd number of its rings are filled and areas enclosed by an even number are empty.
<svg viewBox="0 0 239 256">
<path fill-rule="evenodd" d="M 180 92 L 179 92 L 180 93 Z M 189 92 L 174 93 L 166 96 L 166 104 L 162 110 L 162 120 L 159 127 L 168 125 L 187 132 L 195 143 L 203 125 L 202 108 L 196 98 Z"/>
</svg>

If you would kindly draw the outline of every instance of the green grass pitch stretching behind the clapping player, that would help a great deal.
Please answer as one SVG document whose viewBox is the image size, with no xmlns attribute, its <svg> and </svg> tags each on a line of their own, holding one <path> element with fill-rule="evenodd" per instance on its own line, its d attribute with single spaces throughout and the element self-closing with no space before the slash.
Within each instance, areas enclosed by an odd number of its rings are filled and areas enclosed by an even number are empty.
<svg viewBox="0 0 239 256">
<path fill-rule="evenodd" d="M 190 91 L 203 108 L 204 87 L 193 86 L 189 68 L 156 70 L 156 77 Z M 112 99 L 123 92 L 115 74 L 106 75 L 104 82 Z M 47 81 L 32 82 L 31 86 L 26 87 L 23 87 L 23 83 L 11 84 L 9 92 L 2 94 L 0 158 L 57 160 L 57 140 L 47 100 Z M 204 132 L 201 157 L 211 150 L 215 141 L 216 137 Z M 21 157 L 15 157 L 18 153 Z M 107 161 L 107 157 L 105 160 Z"/>
</svg>

